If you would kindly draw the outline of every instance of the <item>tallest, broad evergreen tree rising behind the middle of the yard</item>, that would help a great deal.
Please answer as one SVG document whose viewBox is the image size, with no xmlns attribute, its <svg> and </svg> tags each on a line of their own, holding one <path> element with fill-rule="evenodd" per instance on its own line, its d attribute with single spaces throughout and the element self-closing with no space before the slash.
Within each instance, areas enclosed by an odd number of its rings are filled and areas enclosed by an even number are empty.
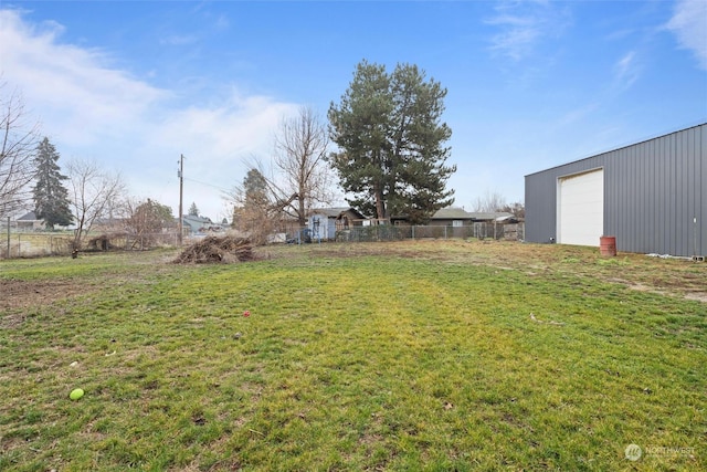
<svg viewBox="0 0 707 472">
<path fill-rule="evenodd" d="M 386 67 L 358 64 L 340 104 L 329 107 L 331 140 L 340 151 L 331 156 L 344 190 L 354 207 L 384 219 L 405 214 L 424 222 L 451 204 L 445 183 L 456 171 L 446 166 L 452 136 L 442 123 L 446 88 L 425 78 L 416 65 Z"/>
</svg>

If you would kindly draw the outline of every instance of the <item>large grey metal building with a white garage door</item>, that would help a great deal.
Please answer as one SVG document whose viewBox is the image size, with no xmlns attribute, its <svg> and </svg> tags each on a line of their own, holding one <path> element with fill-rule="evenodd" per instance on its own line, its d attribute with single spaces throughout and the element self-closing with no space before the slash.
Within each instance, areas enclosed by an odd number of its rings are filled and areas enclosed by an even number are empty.
<svg viewBox="0 0 707 472">
<path fill-rule="evenodd" d="M 526 240 L 707 254 L 707 123 L 526 176 Z"/>
</svg>

